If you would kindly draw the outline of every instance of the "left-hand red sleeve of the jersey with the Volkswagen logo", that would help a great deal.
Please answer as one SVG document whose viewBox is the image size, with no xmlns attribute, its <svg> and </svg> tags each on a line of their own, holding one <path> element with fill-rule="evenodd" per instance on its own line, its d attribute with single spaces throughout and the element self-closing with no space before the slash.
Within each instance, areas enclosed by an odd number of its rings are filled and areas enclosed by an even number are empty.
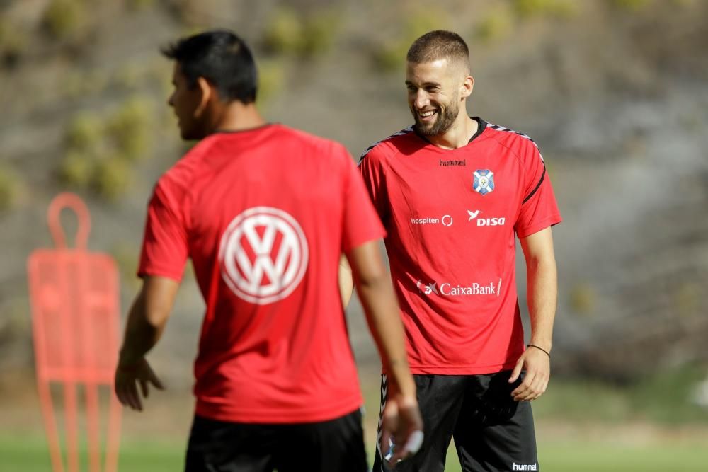
<svg viewBox="0 0 708 472">
<path fill-rule="evenodd" d="M 147 207 L 139 277 L 182 279 L 189 249 L 185 221 L 178 208 L 177 199 L 159 182 Z"/>
</svg>

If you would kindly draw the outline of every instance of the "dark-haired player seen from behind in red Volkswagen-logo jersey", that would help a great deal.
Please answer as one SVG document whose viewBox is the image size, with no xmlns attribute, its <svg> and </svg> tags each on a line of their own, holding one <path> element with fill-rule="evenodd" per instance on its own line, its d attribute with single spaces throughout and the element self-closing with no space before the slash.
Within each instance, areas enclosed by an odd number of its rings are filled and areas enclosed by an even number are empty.
<svg viewBox="0 0 708 472">
<path fill-rule="evenodd" d="M 206 312 L 185 470 L 366 471 L 336 282 L 345 253 L 390 372 L 384 427 L 409 444 L 394 459 L 404 458 L 417 449 L 420 412 L 378 248 L 384 229 L 353 160 L 341 144 L 263 121 L 256 65 L 233 33 L 201 33 L 163 52 L 175 61 L 169 105 L 181 136 L 200 142 L 162 175 L 148 205 L 118 398 L 142 410 L 149 384 L 162 388 L 145 355 L 191 258 Z"/>
</svg>

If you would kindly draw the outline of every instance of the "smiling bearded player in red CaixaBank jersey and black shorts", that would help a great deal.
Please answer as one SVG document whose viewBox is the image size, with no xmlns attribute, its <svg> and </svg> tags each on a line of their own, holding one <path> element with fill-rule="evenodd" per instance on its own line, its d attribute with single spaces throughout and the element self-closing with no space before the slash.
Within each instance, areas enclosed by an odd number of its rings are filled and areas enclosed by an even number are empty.
<svg viewBox="0 0 708 472">
<path fill-rule="evenodd" d="M 549 380 L 551 226 L 561 221 L 544 161 L 525 134 L 467 115 L 474 79 L 459 35 L 427 33 L 406 59 L 415 124 L 371 146 L 359 164 L 387 229 L 425 422 L 421 451 L 396 470 L 442 471 L 451 437 L 464 471 L 539 470 L 529 401 Z M 526 347 L 516 238 L 527 267 Z M 382 405 L 389 381 L 384 366 Z M 374 471 L 389 470 L 387 449 L 377 449 Z"/>
</svg>

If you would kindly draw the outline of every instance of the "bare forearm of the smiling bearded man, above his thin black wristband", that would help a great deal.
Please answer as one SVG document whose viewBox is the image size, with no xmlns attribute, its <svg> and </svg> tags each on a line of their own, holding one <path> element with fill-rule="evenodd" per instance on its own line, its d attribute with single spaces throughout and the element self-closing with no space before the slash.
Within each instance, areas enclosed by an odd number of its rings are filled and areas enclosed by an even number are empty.
<svg viewBox="0 0 708 472">
<path fill-rule="evenodd" d="M 527 300 L 531 320 L 530 343 L 550 351 L 556 316 L 558 280 L 553 258 L 527 260 Z"/>
</svg>

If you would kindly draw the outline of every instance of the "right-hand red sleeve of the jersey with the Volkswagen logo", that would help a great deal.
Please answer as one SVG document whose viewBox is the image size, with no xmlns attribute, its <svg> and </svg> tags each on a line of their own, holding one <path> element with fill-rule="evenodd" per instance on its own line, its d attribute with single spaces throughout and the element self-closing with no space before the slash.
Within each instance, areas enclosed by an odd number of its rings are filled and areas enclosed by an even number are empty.
<svg viewBox="0 0 708 472">
<path fill-rule="evenodd" d="M 363 243 L 383 238 L 386 236 L 386 231 L 367 195 L 351 156 L 346 149 L 342 151 L 346 156 L 342 186 L 344 197 L 342 252 L 348 253 Z"/>
</svg>

